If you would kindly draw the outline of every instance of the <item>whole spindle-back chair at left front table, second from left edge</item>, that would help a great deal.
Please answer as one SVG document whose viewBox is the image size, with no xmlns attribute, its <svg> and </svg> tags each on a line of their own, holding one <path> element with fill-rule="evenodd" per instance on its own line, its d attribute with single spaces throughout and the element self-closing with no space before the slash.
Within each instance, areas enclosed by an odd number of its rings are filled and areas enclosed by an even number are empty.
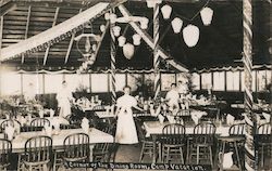
<svg viewBox="0 0 272 171">
<path fill-rule="evenodd" d="M 49 170 L 52 158 L 52 139 L 45 135 L 28 139 L 22 158 L 23 170 Z"/>
</svg>

